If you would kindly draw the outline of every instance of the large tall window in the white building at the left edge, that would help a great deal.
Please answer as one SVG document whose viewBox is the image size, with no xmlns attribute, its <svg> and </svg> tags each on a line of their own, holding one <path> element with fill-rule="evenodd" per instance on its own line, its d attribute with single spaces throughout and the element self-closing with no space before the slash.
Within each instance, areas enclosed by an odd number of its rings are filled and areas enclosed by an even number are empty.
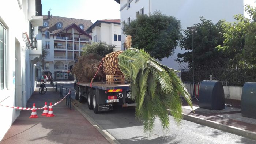
<svg viewBox="0 0 256 144">
<path fill-rule="evenodd" d="M 0 23 L 0 88 L 6 88 L 6 45 L 7 30 Z"/>
</svg>

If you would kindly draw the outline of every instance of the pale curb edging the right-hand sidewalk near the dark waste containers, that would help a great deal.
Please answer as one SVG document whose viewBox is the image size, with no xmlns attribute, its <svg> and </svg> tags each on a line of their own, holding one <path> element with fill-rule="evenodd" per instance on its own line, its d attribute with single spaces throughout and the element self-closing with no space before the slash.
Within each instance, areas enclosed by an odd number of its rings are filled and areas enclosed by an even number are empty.
<svg viewBox="0 0 256 144">
<path fill-rule="evenodd" d="M 252 140 L 256 140 L 256 132 L 251 132 L 249 130 L 236 128 L 234 126 L 222 124 L 215 121 L 206 120 L 204 118 L 195 117 L 193 115 L 184 114 L 184 120 L 195 122 L 197 124 L 205 125 L 214 129 L 222 130 L 225 132 L 233 133 L 242 137 L 246 137 Z"/>
</svg>

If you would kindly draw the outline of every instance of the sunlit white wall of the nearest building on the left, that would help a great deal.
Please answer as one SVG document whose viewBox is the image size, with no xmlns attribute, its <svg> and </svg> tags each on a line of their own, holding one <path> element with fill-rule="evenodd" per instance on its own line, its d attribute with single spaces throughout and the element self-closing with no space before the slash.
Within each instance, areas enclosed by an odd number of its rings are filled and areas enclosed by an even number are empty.
<svg viewBox="0 0 256 144">
<path fill-rule="evenodd" d="M 27 0 L 23 0 L 22 9 L 17 0 L 1 3 L 0 23 L 7 29 L 5 76 L 7 87 L 0 90 L 1 105 L 25 107 L 32 94 L 31 91 L 34 91 L 35 69 L 34 65 L 32 67 L 30 63 L 29 50 L 23 41 L 23 32 L 29 34 L 29 20 L 31 20 L 31 13 L 35 10 L 35 1 L 30 0 L 29 3 Z M 28 12 L 30 12 L 29 17 Z M 16 116 L 19 115 L 19 110 L 1 106 L 0 114 L 2 115 L 0 122 L 1 140 L 12 122 L 15 121 Z"/>
</svg>

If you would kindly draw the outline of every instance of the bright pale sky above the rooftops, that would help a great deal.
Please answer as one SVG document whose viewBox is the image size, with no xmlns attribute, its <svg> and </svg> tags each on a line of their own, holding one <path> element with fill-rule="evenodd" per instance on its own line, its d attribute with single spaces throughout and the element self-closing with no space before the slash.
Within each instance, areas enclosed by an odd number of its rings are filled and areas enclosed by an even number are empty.
<svg viewBox="0 0 256 144">
<path fill-rule="evenodd" d="M 244 5 L 256 7 L 255 0 L 244 0 Z M 50 10 L 51 9 L 51 10 Z M 53 16 L 91 20 L 120 19 L 120 4 L 114 0 L 42 0 L 42 13 Z M 247 14 L 245 14 L 248 17 Z"/>
</svg>

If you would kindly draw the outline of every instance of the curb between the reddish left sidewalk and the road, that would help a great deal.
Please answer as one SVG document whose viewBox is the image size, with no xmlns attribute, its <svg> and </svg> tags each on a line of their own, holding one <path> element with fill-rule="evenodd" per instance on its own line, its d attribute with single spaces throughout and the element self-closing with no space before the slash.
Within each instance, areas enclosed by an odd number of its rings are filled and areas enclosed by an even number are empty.
<svg viewBox="0 0 256 144">
<path fill-rule="evenodd" d="M 84 113 L 77 106 L 75 106 L 73 102 L 71 102 L 71 105 L 73 107 L 75 107 L 75 109 L 78 110 L 79 113 L 82 114 L 83 117 L 86 118 L 86 120 L 88 120 L 94 126 L 94 128 L 96 128 L 102 134 L 102 136 L 105 137 L 109 141 L 109 143 L 111 143 L 111 144 L 120 144 L 109 132 L 107 132 L 105 129 L 103 129 L 88 114 Z"/>
</svg>

